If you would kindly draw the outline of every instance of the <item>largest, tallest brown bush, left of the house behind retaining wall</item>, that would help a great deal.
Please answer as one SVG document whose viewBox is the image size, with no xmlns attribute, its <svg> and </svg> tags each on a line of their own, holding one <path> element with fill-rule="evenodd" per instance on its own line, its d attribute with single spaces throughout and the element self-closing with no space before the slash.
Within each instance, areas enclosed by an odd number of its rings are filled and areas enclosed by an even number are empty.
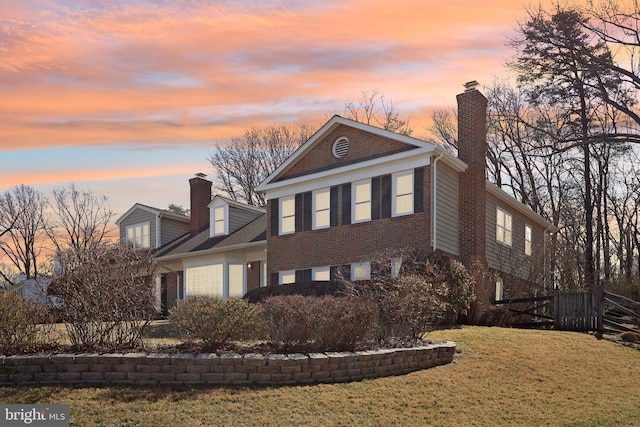
<svg viewBox="0 0 640 427">
<path fill-rule="evenodd" d="M 62 274 L 49 286 L 71 344 L 82 351 L 143 345 L 155 319 L 156 263 L 151 251 L 101 244 L 62 254 Z"/>
</svg>

